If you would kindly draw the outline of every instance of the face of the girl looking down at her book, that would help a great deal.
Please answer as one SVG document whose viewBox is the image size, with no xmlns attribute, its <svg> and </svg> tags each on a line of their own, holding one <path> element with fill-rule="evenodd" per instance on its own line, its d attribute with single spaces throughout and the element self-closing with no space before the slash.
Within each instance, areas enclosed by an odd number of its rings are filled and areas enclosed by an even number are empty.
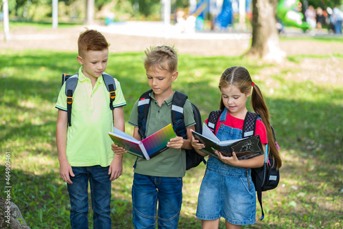
<svg viewBox="0 0 343 229">
<path fill-rule="evenodd" d="M 239 88 L 235 85 L 222 87 L 220 91 L 222 91 L 224 106 L 228 109 L 228 112 L 231 115 L 236 114 L 239 116 L 240 114 L 246 113 L 246 100 L 248 100 L 251 92 L 248 94 L 241 93 Z"/>
</svg>

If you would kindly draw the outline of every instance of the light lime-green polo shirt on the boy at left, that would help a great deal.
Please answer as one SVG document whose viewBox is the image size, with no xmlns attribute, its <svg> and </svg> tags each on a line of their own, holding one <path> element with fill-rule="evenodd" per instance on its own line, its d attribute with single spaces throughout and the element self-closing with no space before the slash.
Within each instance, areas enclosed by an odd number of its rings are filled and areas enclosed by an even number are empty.
<svg viewBox="0 0 343 229">
<path fill-rule="evenodd" d="M 65 83 L 60 90 L 56 108 L 67 111 Z M 115 79 L 116 97 L 114 107 L 126 105 L 120 83 Z M 91 80 L 79 69 L 78 86 L 73 95 L 71 127 L 67 130 L 67 159 L 71 166 L 109 166 L 113 160 L 110 149 L 113 131 L 113 113 L 110 110 L 110 96 L 104 79 L 99 77 L 92 89 Z"/>
</svg>

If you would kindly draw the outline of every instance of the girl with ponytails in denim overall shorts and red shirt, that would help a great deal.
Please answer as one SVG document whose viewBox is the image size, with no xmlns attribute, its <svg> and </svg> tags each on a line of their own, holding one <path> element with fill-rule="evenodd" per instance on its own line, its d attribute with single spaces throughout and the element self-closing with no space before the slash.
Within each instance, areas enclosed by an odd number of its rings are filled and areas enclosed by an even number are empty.
<svg viewBox="0 0 343 229">
<path fill-rule="evenodd" d="M 244 118 L 248 112 L 246 101 L 248 96 L 252 95 L 252 107 L 262 119 L 257 120 L 255 134 L 260 135 L 265 151 L 265 144 L 274 142 L 269 113 L 261 91 L 252 82 L 248 70 L 244 67 L 226 69 L 220 78 L 219 88 L 222 92 L 220 109 L 224 111 L 217 122 L 217 138 L 221 141 L 241 138 Z M 206 156 L 206 153 L 200 151 L 204 144 L 200 144 L 194 138 L 191 144 L 200 155 Z M 268 146 L 275 147 L 272 144 Z M 202 219 L 202 228 L 218 228 L 220 217 L 226 219 L 226 228 L 241 228 L 241 225 L 255 223 L 256 194 L 251 179 L 251 168 L 263 166 L 265 156 L 238 160 L 235 153 L 232 157 L 224 157 L 220 152 L 216 152 L 216 155 L 220 160 L 209 157 L 207 161 L 198 197 L 196 216 Z M 280 155 L 275 157 L 281 166 Z"/>
</svg>

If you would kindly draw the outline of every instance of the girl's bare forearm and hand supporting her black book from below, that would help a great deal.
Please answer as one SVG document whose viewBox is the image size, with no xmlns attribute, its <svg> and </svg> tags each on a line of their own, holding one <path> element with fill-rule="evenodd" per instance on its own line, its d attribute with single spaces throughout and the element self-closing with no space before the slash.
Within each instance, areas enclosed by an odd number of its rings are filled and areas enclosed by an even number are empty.
<svg viewBox="0 0 343 229">
<path fill-rule="evenodd" d="M 265 144 L 262 144 L 263 151 L 265 151 Z M 257 157 L 253 157 L 247 160 L 238 160 L 237 155 L 235 152 L 233 152 L 232 157 L 225 157 L 222 155 L 222 153 L 216 151 L 215 154 L 224 162 L 225 164 L 228 164 L 230 166 L 236 166 L 236 167 L 244 167 L 244 168 L 259 168 L 263 166 L 265 155 L 259 155 Z"/>
</svg>

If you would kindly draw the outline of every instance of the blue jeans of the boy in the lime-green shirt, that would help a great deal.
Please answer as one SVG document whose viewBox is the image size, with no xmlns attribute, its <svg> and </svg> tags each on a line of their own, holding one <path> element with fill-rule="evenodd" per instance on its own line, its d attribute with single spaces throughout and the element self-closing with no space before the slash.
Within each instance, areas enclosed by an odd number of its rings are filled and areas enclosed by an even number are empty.
<svg viewBox="0 0 343 229">
<path fill-rule="evenodd" d="M 71 228 L 88 228 L 88 182 L 91 186 L 93 228 L 111 228 L 110 175 L 102 166 L 71 167 L 75 177 L 67 184 L 70 197 Z"/>
</svg>

